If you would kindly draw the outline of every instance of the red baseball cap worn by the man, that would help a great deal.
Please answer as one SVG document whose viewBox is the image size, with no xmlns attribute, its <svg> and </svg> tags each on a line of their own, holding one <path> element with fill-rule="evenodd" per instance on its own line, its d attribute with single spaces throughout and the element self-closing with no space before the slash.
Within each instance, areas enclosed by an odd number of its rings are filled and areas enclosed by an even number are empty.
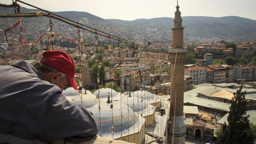
<svg viewBox="0 0 256 144">
<path fill-rule="evenodd" d="M 66 74 L 69 79 L 69 87 L 73 87 L 78 91 L 78 87 L 75 83 L 75 64 L 72 57 L 68 53 L 64 53 L 59 50 L 47 50 L 43 52 L 43 57 L 40 62 L 48 65 L 49 67 Z"/>
</svg>

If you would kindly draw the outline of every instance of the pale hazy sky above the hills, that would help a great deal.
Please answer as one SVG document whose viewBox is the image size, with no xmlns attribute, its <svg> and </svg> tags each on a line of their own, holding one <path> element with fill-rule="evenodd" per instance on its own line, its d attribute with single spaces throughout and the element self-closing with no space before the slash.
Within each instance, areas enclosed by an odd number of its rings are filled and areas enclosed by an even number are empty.
<svg viewBox="0 0 256 144">
<path fill-rule="evenodd" d="M 85 11 L 103 19 L 174 17 L 177 0 L 22 0 L 48 11 Z M 0 0 L 11 4 L 12 0 Z M 17 2 L 23 7 L 32 8 Z M 179 0 L 181 16 L 240 16 L 256 20 L 256 0 Z M 21 10 L 22 11 L 22 10 Z"/>
</svg>

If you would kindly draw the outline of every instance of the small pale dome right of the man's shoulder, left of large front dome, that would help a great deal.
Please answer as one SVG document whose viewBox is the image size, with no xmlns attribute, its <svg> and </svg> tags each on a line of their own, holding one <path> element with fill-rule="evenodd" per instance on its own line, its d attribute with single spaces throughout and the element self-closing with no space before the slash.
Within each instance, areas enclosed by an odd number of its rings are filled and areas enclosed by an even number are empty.
<svg viewBox="0 0 256 144">
<path fill-rule="evenodd" d="M 82 94 L 82 99 L 79 96 L 76 96 L 71 102 L 80 103 L 85 108 L 91 108 L 92 106 L 99 103 L 95 99 L 96 99 L 96 96 L 94 94 Z"/>
</svg>

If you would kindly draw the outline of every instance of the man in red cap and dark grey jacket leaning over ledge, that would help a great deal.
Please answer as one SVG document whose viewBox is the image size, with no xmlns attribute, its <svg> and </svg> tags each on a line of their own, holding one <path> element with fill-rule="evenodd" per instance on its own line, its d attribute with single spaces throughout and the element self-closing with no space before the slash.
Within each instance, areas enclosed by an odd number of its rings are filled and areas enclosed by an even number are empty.
<svg viewBox="0 0 256 144">
<path fill-rule="evenodd" d="M 56 50 L 45 51 L 34 66 L 23 60 L 0 66 L 0 144 L 94 138 L 98 125 L 91 112 L 62 94 L 65 85 L 78 90 L 74 75 L 73 59 Z"/>
</svg>

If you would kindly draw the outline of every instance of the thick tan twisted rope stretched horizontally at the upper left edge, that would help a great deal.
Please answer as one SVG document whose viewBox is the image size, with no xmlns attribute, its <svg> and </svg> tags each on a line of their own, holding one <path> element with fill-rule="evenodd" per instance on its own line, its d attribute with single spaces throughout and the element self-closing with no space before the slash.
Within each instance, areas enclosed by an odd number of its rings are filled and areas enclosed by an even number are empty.
<svg viewBox="0 0 256 144">
<path fill-rule="evenodd" d="M 43 14 L 42 11 L 37 11 L 37 12 L 27 12 L 27 13 L 19 13 L 19 14 L 0 15 L 0 17 L 37 17 L 37 16 L 48 16 L 48 14 Z"/>
</svg>

